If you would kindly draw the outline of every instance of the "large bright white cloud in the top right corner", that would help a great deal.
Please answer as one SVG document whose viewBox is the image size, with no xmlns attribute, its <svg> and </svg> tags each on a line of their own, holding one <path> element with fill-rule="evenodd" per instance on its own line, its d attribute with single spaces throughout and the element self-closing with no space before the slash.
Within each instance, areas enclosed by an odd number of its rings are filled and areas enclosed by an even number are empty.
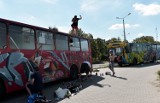
<svg viewBox="0 0 160 103">
<path fill-rule="evenodd" d="M 133 8 L 143 16 L 158 15 L 160 13 L 160 5 L 158 4 L 144 5 L 140 3 L 135 3 L 133 5 Z"/>
</svg>

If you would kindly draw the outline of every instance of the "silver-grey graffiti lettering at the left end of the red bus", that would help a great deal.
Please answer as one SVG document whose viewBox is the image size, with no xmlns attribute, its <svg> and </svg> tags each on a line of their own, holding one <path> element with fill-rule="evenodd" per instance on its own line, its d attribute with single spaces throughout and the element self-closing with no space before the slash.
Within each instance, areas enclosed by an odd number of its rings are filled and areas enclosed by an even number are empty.
<svg viewBox="0 0 160 103">
<path fill-rule="evenodd" d="M 23 86 L 21 74 L 16 71 L 15 67 L 27 61 L 28 59 L 20 52 L 0 54 L 0 63 L 7 62 L 0 68 L 1 77 L 8 82 L 14 82 L 19 86 Z"/>
</svg>

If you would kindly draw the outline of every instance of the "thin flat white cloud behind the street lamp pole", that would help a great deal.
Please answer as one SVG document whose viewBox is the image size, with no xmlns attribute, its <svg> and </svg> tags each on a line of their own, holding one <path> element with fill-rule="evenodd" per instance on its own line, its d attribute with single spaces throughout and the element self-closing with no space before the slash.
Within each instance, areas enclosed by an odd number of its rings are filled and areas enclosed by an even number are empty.
<svg viewBox="0 0 160 103">
<path fill-rule="evenodd" d="M 135 28 L 135 27 L 139 27 L 139 24 L 125 24 L 125 28 Z M 114 24 L 111 27 L 109 27 L 109 30 L 117 30 L 117 29 L 123 29 L 123 24 Z"/>
</svg>

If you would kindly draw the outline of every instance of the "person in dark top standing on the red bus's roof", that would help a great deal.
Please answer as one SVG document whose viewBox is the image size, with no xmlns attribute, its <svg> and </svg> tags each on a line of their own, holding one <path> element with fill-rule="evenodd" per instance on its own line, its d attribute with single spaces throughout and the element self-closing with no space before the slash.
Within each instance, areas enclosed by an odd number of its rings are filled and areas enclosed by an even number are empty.
<svg viewBox="0 0 160 103">
<path fill-rule="evenodd" d="M 77 31 L 78 31 L 78 21 L 82 19 L 82 16 L 79 15 L 80 18 L 77 18 L 77 15 L 75 15 L 73 18 L 72 18 L 72 24 L 71 24 L 71 27 L 72 27 L 72 34 L 77 34 Z"/>
</svg>

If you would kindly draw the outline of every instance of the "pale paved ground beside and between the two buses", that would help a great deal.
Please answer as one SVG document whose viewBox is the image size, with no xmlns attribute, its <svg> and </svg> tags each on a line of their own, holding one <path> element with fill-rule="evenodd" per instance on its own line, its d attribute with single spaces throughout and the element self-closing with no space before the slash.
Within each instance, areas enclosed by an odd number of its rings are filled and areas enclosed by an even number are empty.
<svg viewBox="0 0 160 103">
<path fill-rule="evenodd" d="M 84 89 L 77 95 L 60 100 L 58 103 L 160 103 L 158 70 L 160 65 L 153 64 L 116 67 L 116 77 L 112 77 L 104 75 L 110 70 L 103 68 L 98 72 L 98 76 L 93 75 L 92 80 L 83 82 Z M 103 76 L 100 76 L 101 73 Z M 44 94 L 47 98 L 53 99 L 53 91 L 59 86 L 62 86 L 61 82 L 47 85 Z M 26 99 L 27 93 L 22 91 L 8 96 L 0 103 L 26 103 Z"/>
</svg>

